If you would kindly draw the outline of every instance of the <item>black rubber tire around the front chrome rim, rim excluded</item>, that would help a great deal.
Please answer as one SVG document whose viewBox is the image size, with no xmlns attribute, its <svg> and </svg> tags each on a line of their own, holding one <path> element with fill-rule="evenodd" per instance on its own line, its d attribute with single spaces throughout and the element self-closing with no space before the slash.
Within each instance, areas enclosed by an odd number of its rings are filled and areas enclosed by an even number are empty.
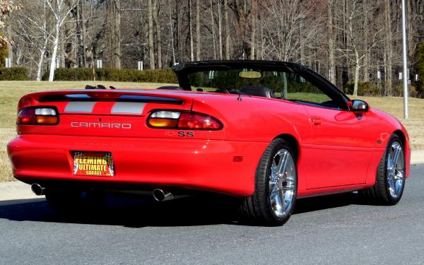
<svg viewBox="0 0 424 265">
<path fill-rule="evenodd" d="M 382 160 L 380 160 L 379 165 L 377 167 L 375 185 L 367 189 L 362 189 L 358 192 L 363 199 L 369 201 L 372 204 L 381 204 L 388 206 L 395 205 L 401 200 L 402 194 L 404 194 L 405 178 L 403 179 L 403 182 L 399 189 L 399 194 L 397 194 L 397 196 L 392 196 L 390 192 L 389 179 L 387 175 L 387 163 L 389 159 L 389 154 L 391 153 L 391 148 L 394 143 L 399 143 L 399 146 L 401 146 L 401 158 L 403 158 L 403 170 L 405 172 L 406 163 L 404 144 L 402 143 L 399 136 L 397 136 L 396 134 L 392 134 L 389 138 L 389 141 L 387 142 L 387 147 L 384 151 Z"/>
</svg>

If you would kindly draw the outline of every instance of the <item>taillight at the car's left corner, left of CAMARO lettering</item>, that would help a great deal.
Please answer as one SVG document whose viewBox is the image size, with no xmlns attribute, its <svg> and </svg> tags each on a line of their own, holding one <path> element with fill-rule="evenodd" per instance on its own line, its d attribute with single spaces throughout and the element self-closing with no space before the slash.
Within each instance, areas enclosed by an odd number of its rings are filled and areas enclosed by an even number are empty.
<svg viewBox="0 0 424 265">
<path fill-rule="evenodd" d="M 16 119 L 16 124 L 23 125 L 54 125 L 58 122 L 59 115 L 53 107 L 25 107 Z"/>
</svg>

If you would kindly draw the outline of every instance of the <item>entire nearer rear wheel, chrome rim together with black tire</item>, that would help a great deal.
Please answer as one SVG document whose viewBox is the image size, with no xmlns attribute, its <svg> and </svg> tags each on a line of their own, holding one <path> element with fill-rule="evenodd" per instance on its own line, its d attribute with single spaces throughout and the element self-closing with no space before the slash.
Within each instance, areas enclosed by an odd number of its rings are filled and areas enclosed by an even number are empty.
<svg viewBox="0 0 424 265">
<path fill-rule="evenodd" d="M 242 219 L 252 224 L 283 225 L 298 196 L 297 148 L 285 139 L 274 139 L 257 166 L 255 190 L 240 205 Z"/>
</svg>

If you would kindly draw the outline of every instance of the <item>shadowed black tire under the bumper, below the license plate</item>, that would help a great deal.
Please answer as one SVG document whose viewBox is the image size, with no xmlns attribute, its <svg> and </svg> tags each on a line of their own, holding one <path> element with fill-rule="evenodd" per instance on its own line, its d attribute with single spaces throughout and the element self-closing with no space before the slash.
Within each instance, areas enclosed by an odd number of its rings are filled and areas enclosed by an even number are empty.
<svg viewBox="0 0 424 265">
<path fill-rule="evenodd" d="M 64 187 L 46 187 L 47 203 L 55 213 L 63 215 L 95 211 L 102 208 L 106 194 L 98 191 L 81 192 Z"/>
</svg>

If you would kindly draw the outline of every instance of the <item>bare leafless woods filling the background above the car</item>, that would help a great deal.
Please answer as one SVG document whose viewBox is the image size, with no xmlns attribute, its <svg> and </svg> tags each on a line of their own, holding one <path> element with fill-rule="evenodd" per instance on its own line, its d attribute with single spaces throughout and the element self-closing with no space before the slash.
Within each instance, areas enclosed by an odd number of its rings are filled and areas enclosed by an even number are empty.
<svg viewBox="0 0 424 265">
<path fill-rule="evenodd" d="M 103 67 L 117 69 L 137 68 L 138 61 L 145 69 L 164 69 L 182 61 L 270 59 L 305 64 L 339 88 L 352 82 L 353 93 L 358 84 L 367 82 L 378 84 L 382 95 L 401 90 L 401 0 L 16 0 L 13 4 L 20 8 L 4 18 L 4 35 L 13 41 L 7 57 L 13 66 L 28 67 L 35 80 L 54 69 L 56 58 L 62 68 L 93 67 L 101 59 Z M 406 0 L 406 7 L 408 78 L 417 86 L 424 0 Z M 422 49 L 424 53 L 424 45 Z M 50 78 L 53 73 L 49 71 Z"/>
</svg>

